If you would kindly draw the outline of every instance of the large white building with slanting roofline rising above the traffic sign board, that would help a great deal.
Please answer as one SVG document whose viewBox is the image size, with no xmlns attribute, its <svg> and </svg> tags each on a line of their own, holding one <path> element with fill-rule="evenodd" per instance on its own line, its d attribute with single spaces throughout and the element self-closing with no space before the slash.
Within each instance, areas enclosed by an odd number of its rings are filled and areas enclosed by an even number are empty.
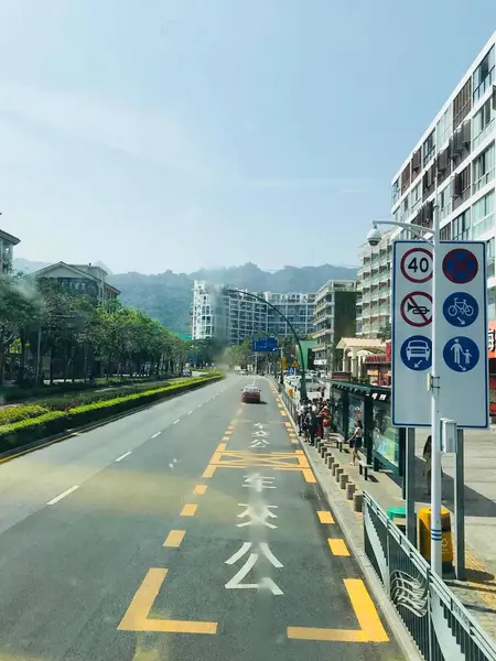
<svg viewBox="0 0 496 661">
<path fill-rule="evenodd" d="M 496 33 L 393 177 L 391 208 L 395 220 L 429 229 L 438 183 L 441 238 L 487 241 L 493 319 L 496 318 L 495 52 Z"/>
</svg>

